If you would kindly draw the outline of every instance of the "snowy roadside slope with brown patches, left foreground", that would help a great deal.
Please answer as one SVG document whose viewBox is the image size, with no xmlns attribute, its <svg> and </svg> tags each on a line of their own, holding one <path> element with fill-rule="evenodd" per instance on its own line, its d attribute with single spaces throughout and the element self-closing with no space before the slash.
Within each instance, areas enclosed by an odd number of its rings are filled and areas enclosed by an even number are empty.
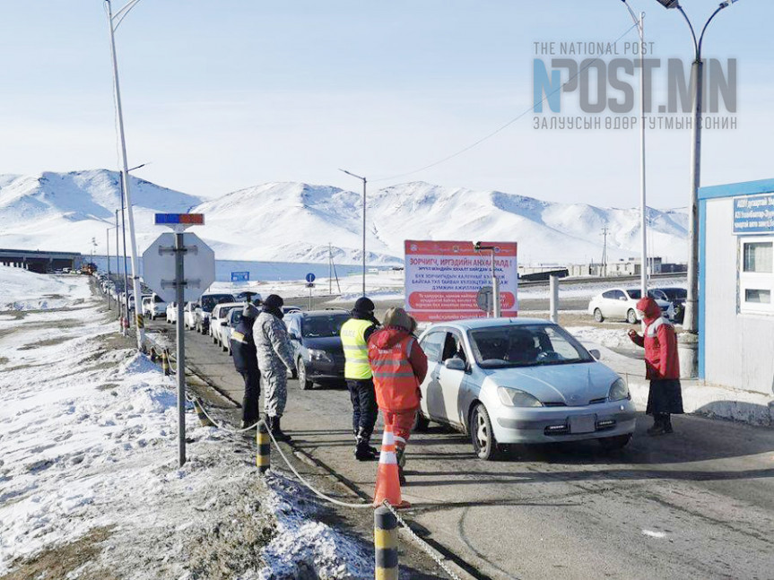
<svg viewBox="0 0 774 580">
<path fill-rule="evenodd" d="M 249 437 L 189 410 L 178 468 L 173 377 L 114 329 L 96 299 L 0 318 L 0 575 L 50 558 L 57 577 L 372 577 L 370 554 L 316 522 L 302 489 L 257 475 Z M 83 542 L 93 557 L 51 572 Z"/>
</svg>

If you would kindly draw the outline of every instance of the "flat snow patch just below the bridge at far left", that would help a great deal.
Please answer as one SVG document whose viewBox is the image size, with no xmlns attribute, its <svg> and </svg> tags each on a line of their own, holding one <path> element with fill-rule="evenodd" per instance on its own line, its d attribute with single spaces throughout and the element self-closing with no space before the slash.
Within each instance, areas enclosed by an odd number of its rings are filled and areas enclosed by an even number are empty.
<svg viewBox="0 0 774 580">
<path fill-rule="evenodd" d="M 72 274 L 36 274 L 23 268 L 0 265 L 0 312 L 58 308 L 89 295 L 88 286 L 78 283 Z"/>
</svg>

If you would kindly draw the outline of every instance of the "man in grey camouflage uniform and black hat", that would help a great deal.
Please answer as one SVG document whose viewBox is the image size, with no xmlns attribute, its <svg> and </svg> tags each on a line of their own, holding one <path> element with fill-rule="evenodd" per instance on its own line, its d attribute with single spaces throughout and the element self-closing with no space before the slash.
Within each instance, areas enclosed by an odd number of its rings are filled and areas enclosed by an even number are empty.
<svg viewBox="0 0 774 580">
<path fill-rule="evenodd" d="M 288 331 L 283 324 L 283 304 L 283 299 L 276 294 L 264 300 L 264 307 L 253 325 L 253 338 L 265 388 L 264 411 L 269 430 L 278 441 L 290 441 L 291 437 L 280 427 L 280 420 L 288 400 L 286 371 L 292 372 L 296 366 Z"/>
</svg>

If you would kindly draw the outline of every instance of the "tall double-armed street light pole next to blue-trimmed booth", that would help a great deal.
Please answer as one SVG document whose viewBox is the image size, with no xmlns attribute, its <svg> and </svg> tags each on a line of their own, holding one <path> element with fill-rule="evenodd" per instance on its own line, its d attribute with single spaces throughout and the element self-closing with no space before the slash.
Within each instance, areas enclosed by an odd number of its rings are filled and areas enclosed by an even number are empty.
<svg viewBox="0 0 774 580">
<path fill-rule="evenodd" d="M 683 11 L 683 6 L 680 5 L 679 0 L 657 0 L 665 8 L 676 8 L 683 14 L 683 19 L 688 23 L 688 28 L 691 30 L 694 48 L 693 65 L 691 66 L 693 134 L 691 141 L 691 203 L 688 208 L 688 296 L 685 299 L 685 317 L 683 319 L 683 330 L 693 335 L 699 333 L 699 188 L 701 185 L 701 123 L 702 93 L 704 89 L 704 63 L 701 59 L 701 45 L 704 41 L 707 27 L 709 27 L 709 22 L 712 22 L 720 11 L 736 1 L 726 0 L 721 2 L 704 24 L 704 28 L 697 39 L 696 30 L 693 29 L 691 20 Z M 688 369 L 691 377 L 695 377 L 697 374 L 696 350 L 694 348 L 683 350 L 681 351 L 681 357 L 691 357 L 690 362 L 686 361 L 684 368 Z"/>
</svg>

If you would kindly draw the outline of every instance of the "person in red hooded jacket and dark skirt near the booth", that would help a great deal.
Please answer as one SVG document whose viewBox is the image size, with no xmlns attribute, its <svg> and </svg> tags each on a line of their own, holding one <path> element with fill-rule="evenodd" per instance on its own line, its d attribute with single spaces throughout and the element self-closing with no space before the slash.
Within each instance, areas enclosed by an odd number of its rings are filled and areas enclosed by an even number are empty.
<svg viewBox="0 0 774 580">
<path fill-rule="evenodd" d="M 662 316 L 656 300 L 640 299 L 637 310 L 645 322 L 645 336 L 630 330 L 629 338 L 645 347 L 645 377 L 650 381 L 645 412 L 653 415 L 653 427 L 648 429 L 648 435 L 664 435 L 673 431 L 670 415 L 683 413 L 677 336 L 674 326 Z"/>
</svg>

